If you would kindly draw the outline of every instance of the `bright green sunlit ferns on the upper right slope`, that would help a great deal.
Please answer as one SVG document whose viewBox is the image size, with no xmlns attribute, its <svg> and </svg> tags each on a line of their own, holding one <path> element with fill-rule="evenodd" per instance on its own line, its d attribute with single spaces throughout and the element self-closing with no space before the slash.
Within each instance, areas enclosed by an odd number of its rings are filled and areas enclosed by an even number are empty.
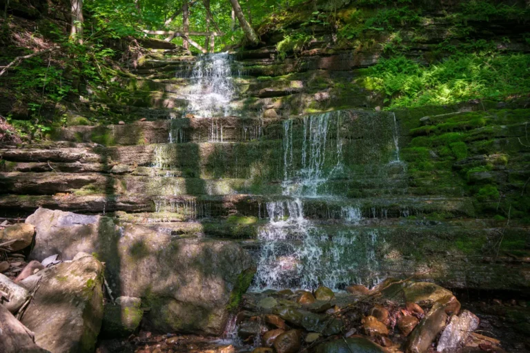
<svg viewBox="0 0 530 353">
<path fill-rule="evenodd" d="M 449 104 L 468 99 L 502 99 L 530 90 L 528 54 L 455 54 L 434 65 L 403 56 L 367 69 L 391 107 Z"/>
</svg>

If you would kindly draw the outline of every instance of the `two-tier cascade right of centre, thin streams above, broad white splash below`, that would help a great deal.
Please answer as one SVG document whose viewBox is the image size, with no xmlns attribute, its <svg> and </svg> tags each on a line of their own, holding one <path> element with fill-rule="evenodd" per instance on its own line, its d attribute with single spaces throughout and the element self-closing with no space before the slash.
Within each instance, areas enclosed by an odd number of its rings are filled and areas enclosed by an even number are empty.
<svg viewBox="0 0 530 353">
<path fill-rule="evenodd" d="M 393 121 L 389 114 L 380 117 L 388 130 L 380 136 L 374 132 L 379 145 L 360 149 L 363 155 L 359 158 L 373 166 L 396 159 L 401 163 L 395 117 Z M 326 193 L 326 184 L 344 172 L 341 128 L 341 112 L 284 121 L 282 186 L 287 198 L 266 203 L 269 222 L 258 234 L 262 250 L 253 290 L 314 289 L 318 285 L 338 290 L 349 283 L 375 285 L 380 281 L 376 249 L 384 236 L 377 229 L 360 226 L 363 216 L 359 206 L 342 206 L 339 216 L 344 227 L 339 230 L 304 218 L 304 199 L 324 203 L 340 199 Z M 374 208 L 368 216 L 386 218 L 386 210 Z"/>
</svg>

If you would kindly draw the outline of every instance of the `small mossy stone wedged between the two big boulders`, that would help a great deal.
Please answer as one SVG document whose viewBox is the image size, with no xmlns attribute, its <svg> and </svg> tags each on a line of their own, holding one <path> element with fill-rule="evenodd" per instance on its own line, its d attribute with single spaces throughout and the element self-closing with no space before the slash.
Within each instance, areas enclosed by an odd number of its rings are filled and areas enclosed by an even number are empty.
<svg viewBox="0 0 530 353">
<path fill-rule="evenodd" d="M 101 336 L 116 338 L 124 337 L 135 332 L 140 324 L 144 311 L 140 309 L 139 298 L 120 296 L 116 305 L 108 303 L 104 307 Z"/>
</svg>

